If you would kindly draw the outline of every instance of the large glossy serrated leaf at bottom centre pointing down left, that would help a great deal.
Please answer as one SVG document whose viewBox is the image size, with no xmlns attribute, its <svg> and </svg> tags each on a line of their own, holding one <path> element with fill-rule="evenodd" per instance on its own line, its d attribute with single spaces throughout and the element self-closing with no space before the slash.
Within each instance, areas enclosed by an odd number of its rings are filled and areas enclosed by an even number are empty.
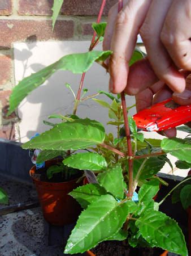
<svg viewBox="0 0 191 256">
<path fill-rule="evenodd" d="M 118 204 L 111 195 L 101 196 L 81 213 L 64 253 L 83 253 L 112 237 L 135 207 L 132 201 Z"/>
</svg>

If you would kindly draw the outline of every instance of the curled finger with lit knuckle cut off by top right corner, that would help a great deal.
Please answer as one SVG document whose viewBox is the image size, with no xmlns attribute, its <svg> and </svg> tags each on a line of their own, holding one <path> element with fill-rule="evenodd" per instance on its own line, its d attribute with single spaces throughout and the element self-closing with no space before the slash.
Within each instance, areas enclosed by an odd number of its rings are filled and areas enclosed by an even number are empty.
<svg viewBox="0 0 191 256">
<path fill-rule="evenodd" d="M 160 34 L 160 39 L 173 62 L 185 70 L 191 70 L 190 9 L 190 0 L 174 0 Z"/>
</svg>

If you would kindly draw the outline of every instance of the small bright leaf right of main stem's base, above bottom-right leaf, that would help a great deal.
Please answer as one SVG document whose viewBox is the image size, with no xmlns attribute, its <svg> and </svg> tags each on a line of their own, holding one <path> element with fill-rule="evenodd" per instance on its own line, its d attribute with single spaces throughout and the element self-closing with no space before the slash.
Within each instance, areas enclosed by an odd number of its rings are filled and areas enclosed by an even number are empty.
<svg viewBox="0 0 191 256">
<path fill-rule="evenodd" d="M 138 191 L 138 202 L 152 200 L 159 191 L 157 180 L 147 181 Z"/>
</svg>

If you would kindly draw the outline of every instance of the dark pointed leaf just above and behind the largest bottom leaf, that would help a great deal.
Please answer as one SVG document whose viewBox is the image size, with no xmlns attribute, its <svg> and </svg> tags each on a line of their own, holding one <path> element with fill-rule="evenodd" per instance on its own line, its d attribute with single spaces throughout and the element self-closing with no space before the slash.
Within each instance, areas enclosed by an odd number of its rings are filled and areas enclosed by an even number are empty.
<svg viewBox="0 0 191 256">
<path fill-rule="evenodd" d="M 81 207 L 86 209 L 89 204 L 96 202 L 100 196 L 106 194 L 106 190 L 99 186 L 99 184 L 86 184 L 85 186 L 75 188 L 69 195 L 75 198 Z"/>
</svg>

